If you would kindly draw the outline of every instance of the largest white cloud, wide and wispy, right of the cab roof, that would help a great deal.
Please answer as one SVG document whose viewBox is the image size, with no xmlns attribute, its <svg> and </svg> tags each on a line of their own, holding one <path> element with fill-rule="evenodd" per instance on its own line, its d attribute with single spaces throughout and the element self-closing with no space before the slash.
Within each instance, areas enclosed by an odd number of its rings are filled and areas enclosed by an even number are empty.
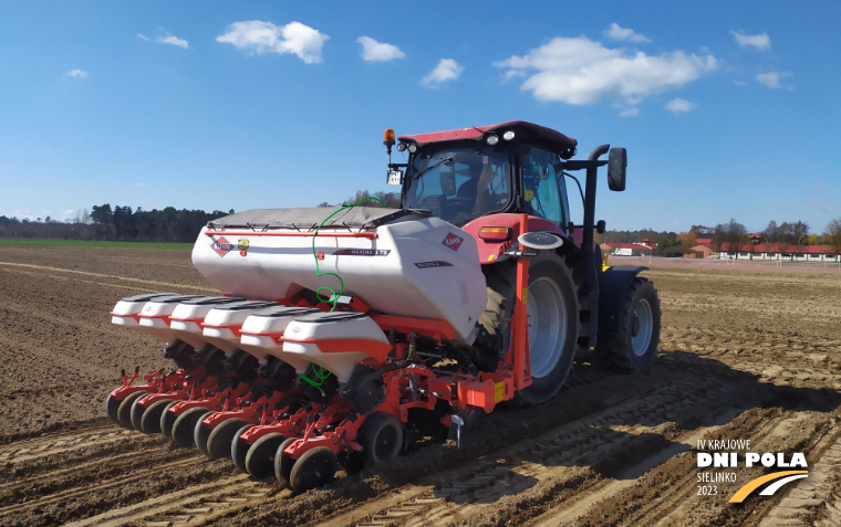
<svg viewBox="0 0 841 527">
<path fill-rule="evenodd" d="M 697 80 L 717 68 L 718 61 L 713 55 L 687 55 L 683 51 L 650 56 L 641 51 L 611 50 L 586 36 L 558 36 L 527 55 L 513 55 L 494 65 L 506 68 L 509 78 L 529 72 L 531 76 L 521 88 L 531 91 L 539 101 L 582 105 L 608 98 L 635 105 L 644 97 Z"/>
</svg>

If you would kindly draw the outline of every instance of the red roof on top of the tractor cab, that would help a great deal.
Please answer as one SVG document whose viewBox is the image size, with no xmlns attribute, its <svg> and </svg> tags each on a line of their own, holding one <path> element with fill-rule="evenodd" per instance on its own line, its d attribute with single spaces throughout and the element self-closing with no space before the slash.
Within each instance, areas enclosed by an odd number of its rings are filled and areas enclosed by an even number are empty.
<svg viewBox="0 0 841 527">
<path fill-rule="evenodd" d="M 424 146 L 430 143 L 463 139 L 480 140 L 486 134 L 503 134 L 507 130 L 513 130 L 516 137 L 520 141 L 540 144 L 549 147 L 551 150 L 567 150 L 575 148 L 578 145 L 575 139 L 564 136 L 560 131 L 532 123 L 526 123 L 525 120 L 511 120 L 509 123 L 500 123 L 490 126 L 471 126 L 469 128 L 458 128 L 455 130 L 399 136 L 397 139 L 404 143 L 415 143 L 418 146 Z"/>
</svg>

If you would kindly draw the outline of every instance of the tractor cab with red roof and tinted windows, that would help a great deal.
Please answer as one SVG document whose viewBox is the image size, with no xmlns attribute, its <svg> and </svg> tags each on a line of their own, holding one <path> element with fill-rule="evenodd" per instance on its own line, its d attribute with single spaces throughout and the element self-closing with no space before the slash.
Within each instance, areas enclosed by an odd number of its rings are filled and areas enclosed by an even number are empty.
<svg viewBox="0 0 841 527">
<path fill-rule="evenodd" d="M 401 136 L 406 164 L 390 164 L 404 209 L 427 209 L 463 226 L 494 213 L 526 213 L 563 232 L 570 222 L 561 164 L 578 143 L 523 122 Z M 386 141 L 387 145 L 387 141 Z"/>
</svg>

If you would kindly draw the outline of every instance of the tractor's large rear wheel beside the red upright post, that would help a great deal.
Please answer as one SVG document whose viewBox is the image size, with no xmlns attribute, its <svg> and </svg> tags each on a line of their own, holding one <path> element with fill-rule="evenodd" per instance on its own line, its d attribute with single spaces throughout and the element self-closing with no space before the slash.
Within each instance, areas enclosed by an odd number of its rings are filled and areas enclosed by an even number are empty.
<svg viewBox="0 0 841 527">
<path fill-rule="evenodd" d="M 539 333 L 529 335 L 531 386 L 515 394 L 515 403 L 532 405 L 548 401 L 567 381 L 578 350 L 577 291 L 572 272 L 553 251 L 541 251 L 529 262 L 529 326 L 537 327 Z"/>
</svg>

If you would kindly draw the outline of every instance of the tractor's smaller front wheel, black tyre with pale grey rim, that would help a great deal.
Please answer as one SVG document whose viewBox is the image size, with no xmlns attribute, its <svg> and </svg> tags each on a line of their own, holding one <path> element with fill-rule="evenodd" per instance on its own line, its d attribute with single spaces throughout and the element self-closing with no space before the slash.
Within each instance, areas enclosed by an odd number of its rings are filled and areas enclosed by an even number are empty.
<svg viewBox="0 0 841 527">
<path fill-rule="evenodd" d="M 619 316 L 619 333 L 599 335 L 595 357 L 625 373 L 643 371 L 657 357 L 661 329 L 657 289 L 647 278 L 634 278 Z"/>
</svg>

